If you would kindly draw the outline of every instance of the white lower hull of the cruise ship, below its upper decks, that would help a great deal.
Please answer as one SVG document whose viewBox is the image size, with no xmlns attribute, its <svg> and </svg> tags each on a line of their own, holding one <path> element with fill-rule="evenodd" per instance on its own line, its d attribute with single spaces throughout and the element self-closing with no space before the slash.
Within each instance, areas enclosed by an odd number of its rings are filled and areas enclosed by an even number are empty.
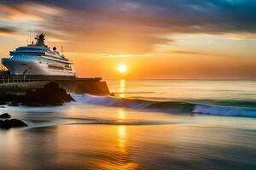
<svg viewBox="0 0 256 170">
<path fill-rule="evenodd" d="M 49 76 L 75 76 L 72 71 L 49 68 L 49 63 L 37 59 L 2 59 L 2 63 L 12 75 L 49 75 Z"/>
</svg>

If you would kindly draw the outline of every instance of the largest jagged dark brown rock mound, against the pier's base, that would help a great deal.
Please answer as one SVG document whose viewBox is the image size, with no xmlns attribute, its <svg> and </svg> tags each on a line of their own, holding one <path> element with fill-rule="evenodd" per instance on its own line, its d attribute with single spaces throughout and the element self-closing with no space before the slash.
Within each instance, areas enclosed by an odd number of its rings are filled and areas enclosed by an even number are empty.
<svg viewBox="0 0 256 170">
<path fill-rule="evenodd" d="M 49 82 L 44 88 L 27 90 L 22 99 L 23 105 L 63 105 L 66 102 L 74 101 L 64 88 L 60 88 L 57 82 Z"/>
</svg>

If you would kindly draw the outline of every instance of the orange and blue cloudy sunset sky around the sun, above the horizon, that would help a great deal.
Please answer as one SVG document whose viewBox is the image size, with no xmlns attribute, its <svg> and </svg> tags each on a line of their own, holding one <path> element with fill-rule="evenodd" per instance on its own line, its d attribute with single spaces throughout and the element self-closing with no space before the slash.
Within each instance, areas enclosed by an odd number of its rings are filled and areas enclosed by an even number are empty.
<svg viewBox="0 0 256 170">
<path fill-rule="evenodd" d="M 80 77 L 256 78 L 255 0 L 0 0 L 1 58 L 30 32 Z"/>
</svg>

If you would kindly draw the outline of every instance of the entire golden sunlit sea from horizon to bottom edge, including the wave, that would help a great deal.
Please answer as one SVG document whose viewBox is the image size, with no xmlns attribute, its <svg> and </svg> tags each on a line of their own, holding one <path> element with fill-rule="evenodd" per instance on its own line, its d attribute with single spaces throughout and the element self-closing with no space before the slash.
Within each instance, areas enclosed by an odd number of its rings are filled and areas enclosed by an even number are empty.
<svg viewBox="0 0 256 170">
<path fill-rule="evenodd" d="M 256 81 L 108 80 L 115 96 L 0 108 L 0 170 L 256 169 Z"/>
</svg>

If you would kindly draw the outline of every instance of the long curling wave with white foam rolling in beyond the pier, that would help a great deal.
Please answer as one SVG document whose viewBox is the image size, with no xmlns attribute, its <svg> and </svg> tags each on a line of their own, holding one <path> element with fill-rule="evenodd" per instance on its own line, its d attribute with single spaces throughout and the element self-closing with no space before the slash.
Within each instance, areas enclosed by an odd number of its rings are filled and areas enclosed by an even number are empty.
<svg viewBox="0 0 256 170">
<path fill-rule="evenodd" d="M 74 95 L 73 98 L 82 103 L 104 105 L 110 107 L 126 107 L 150 111 L 164 111 L 172 113 L 198 113 L 214 116 L 245 116 L 256 117 L 255 108 L 203 105 L 182 101 L 152 101 L 147 99 L 126 99 L 112 96 L 94 96 L 90 94 Z"/>
</svg>

